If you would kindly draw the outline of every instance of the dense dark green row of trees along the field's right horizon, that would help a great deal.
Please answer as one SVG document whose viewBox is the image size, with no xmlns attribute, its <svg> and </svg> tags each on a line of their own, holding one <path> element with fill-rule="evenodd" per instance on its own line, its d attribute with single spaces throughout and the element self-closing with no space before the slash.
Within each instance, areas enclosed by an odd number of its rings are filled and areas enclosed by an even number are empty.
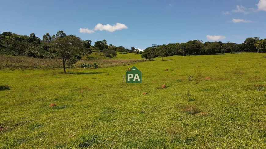
<svg viewBox="0 0 266 149">
<path fill-rule="evenodd" d="M 221 41 L 203 43 L 200 40 L 191 40 L 187 43 L 152 44 L 143 51 L 141 56 L 145 59 L 160 56 L 163 59 L 163 57 L 172 55 L 213 55 L 229 52 L 266 52 L 266 38 L 249 37 L 241 44 L 222 43 Z"/>
</svg>

